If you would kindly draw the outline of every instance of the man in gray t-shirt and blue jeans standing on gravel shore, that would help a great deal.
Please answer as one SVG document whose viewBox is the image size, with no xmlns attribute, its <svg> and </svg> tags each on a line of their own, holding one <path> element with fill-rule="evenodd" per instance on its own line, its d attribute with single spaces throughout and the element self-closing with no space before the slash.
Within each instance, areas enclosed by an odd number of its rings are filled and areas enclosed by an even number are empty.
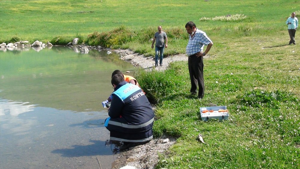
<svg viewBox="0 0 300 169">
<path fill-rule="evenodd" d="M 155 43 L 155 66 L 158 66 L 158 52 L 160 53 L 159 65 L 163 66 L 163 58 L 164 58 L 164 49 L 168 47 L 168 38 L 167 34 L 161 30 L 161 26 L 157 27 L 158 32 L 154 34 L 154 38 L 152 41 L 151 48 L 153 49 L 154 42 Z M 166 43 L 165 43 L 166 40 Z"/>
</svg>

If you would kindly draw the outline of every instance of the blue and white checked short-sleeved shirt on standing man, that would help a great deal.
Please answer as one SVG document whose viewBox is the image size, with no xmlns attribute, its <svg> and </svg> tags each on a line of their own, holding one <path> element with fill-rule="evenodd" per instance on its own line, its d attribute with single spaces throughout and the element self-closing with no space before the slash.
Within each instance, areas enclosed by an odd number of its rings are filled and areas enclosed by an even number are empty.
<svg viewBox="0 0 300 169">
<path fill-rule="evenodd" d="M 212 41 L 207 37 L 206 33 L 197 28 L 193 38 L 191 36 L 189 37 L 186 48 L 187 56 L 202 52 L 204 45 L 207 46 L 211 42 Z"/>
</svg>

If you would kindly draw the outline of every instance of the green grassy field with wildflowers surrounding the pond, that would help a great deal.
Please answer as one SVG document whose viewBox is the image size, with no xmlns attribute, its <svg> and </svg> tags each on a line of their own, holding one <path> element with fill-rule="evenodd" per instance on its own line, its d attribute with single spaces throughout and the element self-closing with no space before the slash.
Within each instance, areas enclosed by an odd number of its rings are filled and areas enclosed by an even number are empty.
<svg viewBox="0 0 300 169">
<path fill-rule="evenodd" d="M 190 96 L 187 62 L 135 75 L 157 103 L 156 137 L 178 138 L 158 168 L 300 168 L 300 38 L 287 45 L 292 1 L 0 1 L 0 42 L 70 41 L 153 56 L 158 25 L 166 55 L 185 53 L 185 23 L 214 42 L 204 60 L 205 97 Z M 240 14 L 245 19 L 213 20 Z M 201 20 L 206 17 L 208 20 Z M 57 40 L 59 38 L 59 40 Z M 229 120 L 203 122 L 199 107 L 225 105 Z M 201 133 L 207 144 L 196 140 Z"/>
</svg>

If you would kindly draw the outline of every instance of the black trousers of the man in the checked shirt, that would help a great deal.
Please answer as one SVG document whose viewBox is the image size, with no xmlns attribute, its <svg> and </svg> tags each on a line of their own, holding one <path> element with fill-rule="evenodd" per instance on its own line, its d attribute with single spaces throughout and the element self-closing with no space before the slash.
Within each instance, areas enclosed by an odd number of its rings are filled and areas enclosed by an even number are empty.
<svg viewBox="0 0 300 169">
<path fill-rule="evenodd" d="M 190 73 L 190 92 L 197 91 L 197 83 L 199 85 L 198 98 L 204 96 L 204 78 L 203 78 L 203 57 L 196 55 L 188 56 L 188 71 Z"/>
</svg>

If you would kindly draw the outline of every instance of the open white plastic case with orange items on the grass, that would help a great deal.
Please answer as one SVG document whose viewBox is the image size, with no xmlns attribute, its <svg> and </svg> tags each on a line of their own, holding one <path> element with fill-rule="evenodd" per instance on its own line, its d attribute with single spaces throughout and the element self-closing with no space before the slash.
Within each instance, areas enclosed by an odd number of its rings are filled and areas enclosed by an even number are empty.
<svg viewBox="0 0 300 169">
<path fill-rule="evenodd" d="M 227 110 L 226 106 L 216 106 L 216 107 L 200 107 L 201 119 L 203 121 L 208 121 L 208 119 L 219 119 L 228 120 L 229 112 L 218 112 L 218 110 Z M 202 113 L 204 110 L 213 110 L 213 112 Z"/>
</svg>

